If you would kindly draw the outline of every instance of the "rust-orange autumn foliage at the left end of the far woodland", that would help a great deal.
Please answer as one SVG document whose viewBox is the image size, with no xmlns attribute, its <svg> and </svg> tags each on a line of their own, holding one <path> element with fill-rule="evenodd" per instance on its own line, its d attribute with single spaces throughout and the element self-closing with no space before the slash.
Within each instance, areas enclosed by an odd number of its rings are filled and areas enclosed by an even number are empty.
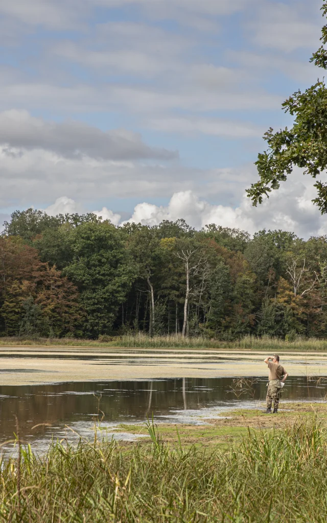
<svg viewBox="0 0 327 523">
<path fill-rule="evenodd" d="M 19 237 L 0 238 L 0 320 L 7 335 L 81 335 L 76 287 Z"/>
</svg>

